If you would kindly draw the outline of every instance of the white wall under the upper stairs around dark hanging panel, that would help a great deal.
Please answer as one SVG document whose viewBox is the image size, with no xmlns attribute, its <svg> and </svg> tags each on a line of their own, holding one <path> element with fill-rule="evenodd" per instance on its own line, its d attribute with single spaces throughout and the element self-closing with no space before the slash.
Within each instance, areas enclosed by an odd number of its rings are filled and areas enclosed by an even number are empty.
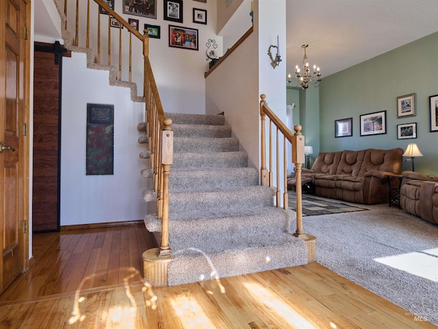
<svg viewBox="0 0 438 329">
<path fill-rule="evenodd" d="M 130 100 L 129 88 L 110 86 L 108 71 L 87 69 L 83 53 L 64 58 L 62 76 L 61 226 L 142 219 L 144 104 Z M 114 104 L 114 175 L 86 175 L 87 103 Z"/>
</svg>

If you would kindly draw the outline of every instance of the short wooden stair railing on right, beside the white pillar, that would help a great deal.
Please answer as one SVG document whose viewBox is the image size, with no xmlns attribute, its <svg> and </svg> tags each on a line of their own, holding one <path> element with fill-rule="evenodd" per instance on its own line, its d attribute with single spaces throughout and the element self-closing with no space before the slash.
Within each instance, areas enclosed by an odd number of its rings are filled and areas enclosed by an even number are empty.
<svg viewBox="0 0 438 329">
<path fill-rule="evenodd" d="M 283 134 L 283 209 L 289 208 L 289 195 L 287 194 L 287 162 L 286 162 L 286 141 L 292 144 L 292 162 L 296 168 L 296 232 L 294 236 L 300 239 L 307 239 L 307 234 L 302 230 L 302 188 L 301 188 L 301 169 L 302 164 L 305 162 L 305 136 L 301 133 L 301 125 L 295 125 L 295 133 L 291 132 L 289 128 L 276 116 L 276 114 L 269 108 L 266 102 L 266 95 L 260 95 L 260 117 L 261 117 L 261 167 L 260 167 L 260 180 L 261 186 L 274 186 L 274 168 L 272 166 L 273 160 L 273 147 L 272 147 L 272 125 L 276 127 L 276 206 L 281 207 L 281 189 L 280 189 L 280 176 L 279 164 L 280 157 L 280 139 L 279 132 Z M 269 121 L 269 170 L 266 167 L 266 117 Z"/>
</svg>

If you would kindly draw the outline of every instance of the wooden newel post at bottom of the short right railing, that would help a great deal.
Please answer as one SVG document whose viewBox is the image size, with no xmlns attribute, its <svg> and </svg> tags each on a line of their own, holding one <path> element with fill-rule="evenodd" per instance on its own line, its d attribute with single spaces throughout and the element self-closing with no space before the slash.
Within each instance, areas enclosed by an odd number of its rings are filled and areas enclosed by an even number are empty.
<svg viewBox="0 0 438 329">
<path fill-rule="evenodd" d="M 301 125 L 294 125 L 295 134 L 292 137 L 292 162 L 296 167 L 296 232 L 294 236 L 305 239 L 306 234 L 302 231 L 302 190 L 301 190 L 301 167 L 305 162 L 304 136 L 301 134 Z M 295 151 L 293 151 L 295 150 Z"/>
</svg>

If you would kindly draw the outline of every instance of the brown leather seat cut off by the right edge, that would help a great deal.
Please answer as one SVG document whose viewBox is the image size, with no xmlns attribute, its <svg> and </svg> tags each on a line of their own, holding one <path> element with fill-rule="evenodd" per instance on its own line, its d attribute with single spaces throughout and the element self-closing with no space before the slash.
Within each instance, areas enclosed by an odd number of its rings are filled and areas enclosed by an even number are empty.
<svg viewBox="0 0 438 329">
<path fill-rule="evenodd" d="M 438 177 L 403 171 L 400 207 L 430 223 L 438 224 Z"/>
</svg>

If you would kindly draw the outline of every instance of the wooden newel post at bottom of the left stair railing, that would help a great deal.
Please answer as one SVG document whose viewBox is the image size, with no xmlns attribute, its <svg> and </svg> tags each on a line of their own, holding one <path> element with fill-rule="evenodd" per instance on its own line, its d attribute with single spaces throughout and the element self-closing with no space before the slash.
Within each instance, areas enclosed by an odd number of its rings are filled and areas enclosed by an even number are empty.
<svg viewBox="0 0 438 329">
<path fill-rule="evenodd" d="M 173 132 L 172 120 L 164 119 L 162 131 L 162 166 L 163 166 L 163 219 L 162 219 L 162 245 L 159 247 L 158 257 L 170 256 L 169 246 L 169 176 L 170 166 L 173 163 Z"/>
</svg>

